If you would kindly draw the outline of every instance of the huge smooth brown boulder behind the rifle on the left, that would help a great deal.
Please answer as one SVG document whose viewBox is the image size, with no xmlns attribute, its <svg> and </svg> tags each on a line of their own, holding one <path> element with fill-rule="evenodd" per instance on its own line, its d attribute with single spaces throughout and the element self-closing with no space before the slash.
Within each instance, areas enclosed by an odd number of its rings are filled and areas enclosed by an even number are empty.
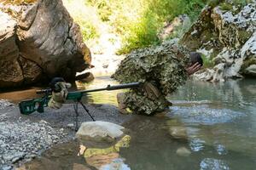
<svg viewBox="0 0 256 170">
<path fill-rule="evenodd" d="M 74 79 L 90 50 L 61 0 L 0 1 L 0 87 Z"/>
</svg>

